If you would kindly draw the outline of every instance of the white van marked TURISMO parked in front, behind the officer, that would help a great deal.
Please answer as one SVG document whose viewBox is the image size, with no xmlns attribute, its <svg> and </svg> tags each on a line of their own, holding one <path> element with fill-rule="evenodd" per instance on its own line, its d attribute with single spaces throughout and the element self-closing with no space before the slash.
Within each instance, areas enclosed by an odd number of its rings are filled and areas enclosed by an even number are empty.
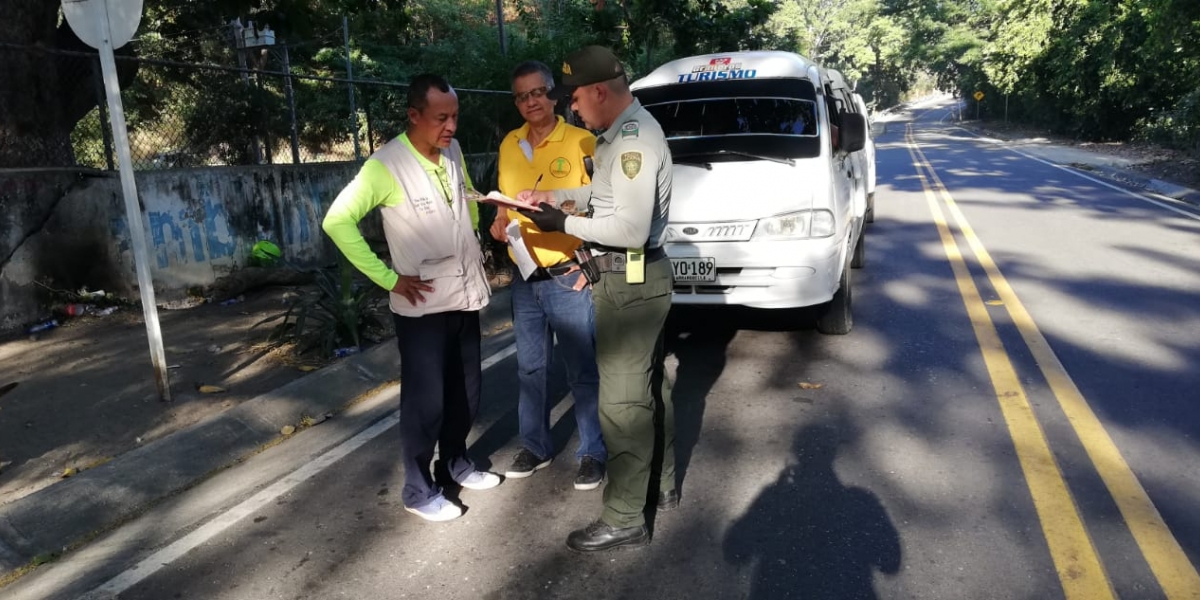
<svg viewBox="0 0 1200 600">
<path fill-rule="evenodd" d="M 866 121 L 839 110 L 836 80 L 798 54 L 743 52 L 634 82 L 674 161 L 665 248 L 676 304 L 820 306 L 820 331 L 850 332 L 865 220 L 853 154 Z"/>
</svg>

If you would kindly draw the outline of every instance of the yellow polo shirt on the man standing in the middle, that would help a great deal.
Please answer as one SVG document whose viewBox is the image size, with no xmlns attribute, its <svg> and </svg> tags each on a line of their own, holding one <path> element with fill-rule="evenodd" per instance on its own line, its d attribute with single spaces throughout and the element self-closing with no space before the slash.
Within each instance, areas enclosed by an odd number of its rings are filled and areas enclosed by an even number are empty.
<svg viewBox="0 0 1200 600">
<path fill-rule="evenodd" d="M 522 190 L 533 190 L 538 175 L 538 190 L 565 190 L 590 182 L 583 168 L 583 157 L 595 154 L 596 138 L 587 130 L 566 125 L 562 116 L 554 131 L 533 149 L 533 160 L 526 157 L 521 142 L 529 137 L 529 124 L 512 130 L 500 142 L 499 187 L 500 193 L 515 197 Z M 530 256 L 541 266 L 553 266 L 572 258 L 575 248 L 582 244 L 578 238 L 565 233 L 544 233 L 520 212 L 509 210 L 508 217 L 521 222 L 521 236 Z M 500 218 L 500 215 L 497 215 Z M 512 250 L 509 250 L 509 254 Z"/>
</svg>

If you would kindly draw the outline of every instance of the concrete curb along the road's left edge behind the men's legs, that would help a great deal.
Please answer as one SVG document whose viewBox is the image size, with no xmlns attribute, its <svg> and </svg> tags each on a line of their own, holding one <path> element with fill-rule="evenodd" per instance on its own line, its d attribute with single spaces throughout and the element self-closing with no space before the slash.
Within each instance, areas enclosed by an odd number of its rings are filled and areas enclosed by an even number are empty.
<svg viewBox="0 0 1200 600">
<path fill-rule="evenodd" d="M 506 289 L 480 314 L 484 335 L 511 319 Z M 485 338 L 485 343 L 488 340 Z M 280 439 L 304 415 L 337 412 L 396 380 L 394 342 L 344 359 L 277 390 L 248 400 L 196 426 L 132 450 L 36 493 L 0 506 L 0 580 L 35 557 L 61 553 L 137 516 Z"/>
</svg>

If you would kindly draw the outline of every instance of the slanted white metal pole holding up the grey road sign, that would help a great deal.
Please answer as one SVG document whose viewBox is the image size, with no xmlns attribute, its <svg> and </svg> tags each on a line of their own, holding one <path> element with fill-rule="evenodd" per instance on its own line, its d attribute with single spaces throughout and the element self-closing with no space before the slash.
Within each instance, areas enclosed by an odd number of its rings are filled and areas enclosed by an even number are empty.
<svg viewBox="0 0 1200 600">
<path fill-rule="evenodd" d="M 167 355 L 162 349 L 162 329 L 158 326 L 158 307 L 154 300 L 154 281 L 150 278 L 150 252 L 146 250 L 146 232 L 142 223 L 142 208 L 138 205 L 138 186 L 133 179 L 133 163 L 130 156 L 130 132 L 125 128 L 125 107 L 121 103 L 121 88 L 116 80 L 116 59 L 113 58 L 113 44 L 107 36 L 100 44 L 100 66 L 104 71 L 104 90 L 108 104 L 113 108 L 113 138 L 116 142 L 116 158 L 121 170 L 121 191 L 125 196 L 125 220 L 130 226 L 130 239 L 133 242 L 133 264 L 138 271 L 138 289 L 142 293 L 142 314 L 146 322 L 146 337 L 150 342 L 150 361 L 154 364 L 155 384 L 158 385 L 158 398 L 170 402 L 170 380 L 167 377 Z"/>
</svg>

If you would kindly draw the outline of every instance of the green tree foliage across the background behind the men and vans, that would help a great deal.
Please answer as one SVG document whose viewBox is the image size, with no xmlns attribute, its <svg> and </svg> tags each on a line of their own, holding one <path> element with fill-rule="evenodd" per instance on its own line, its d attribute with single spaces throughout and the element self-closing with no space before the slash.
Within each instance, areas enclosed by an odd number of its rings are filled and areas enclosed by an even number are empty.
<svg viewBox="0 0 1200 600">
<path fill-rule="evenodd" d="M 222 22 L 269 23 L 288 42 L 293 72 L 346 76 L 342 18 L 349 19 L 356 78 L 407 82 L 437 72 L 460 92 L 460 142 L 492 151 L 520 124 L 511 67 L 538 59 L 554 71 L 571 50 L 612 47 L 640 77 L 700 53 L 785 49 L 839 68 L 877 108 L 932 80 L 968 96 L 986 92 L 984 118 L 1008 101 L 1014 119 L 1093 139 L 1165 140 L 1195 148 L 1200 130 L 1200 1 L 1196 0 L 503 0 L 506 53 L 494 0 L 214 0 L 150 2 L 142 55 L 233 66 Z M 251 61 L 254 64 L 254 60 Z M 265 65 L 265 66 L 264 66 Z M 281 68 L 278 59 L 259 64 Z M 282 82 L 246 89 L 239 77 L 196 80 L 143 68 L 126 94 L 131 127 L 156 131 L 186 120 L 197 152 L 245 158 L 256 138 L 284 139 Z M 239 88 L 241 85 L 241 88 Z M 181 90 L 198 90 L 185 95 Z M 350 116 L 344 84 L 295 79 L 301 145 L 330 152 L 352 128 L 380 142 L 404 127 L 403 86 L 359 85 Z M 481 94 L 468 90 L 494 90 Z M 212 122 L 236 134 L 217 136 Z M 89 116 L 77 130 L 96 130 Z M 173 145 L 148 150 L 178 150 Z M 344 155 L 344 149 L 342 149 Z"/>
</svg>

